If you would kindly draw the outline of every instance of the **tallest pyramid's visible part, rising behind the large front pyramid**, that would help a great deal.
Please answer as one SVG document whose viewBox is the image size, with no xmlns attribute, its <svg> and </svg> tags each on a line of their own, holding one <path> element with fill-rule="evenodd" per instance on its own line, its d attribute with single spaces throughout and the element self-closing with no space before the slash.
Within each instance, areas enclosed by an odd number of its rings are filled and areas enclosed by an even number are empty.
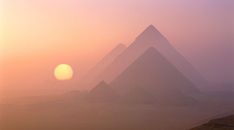
<svg viewBox="0 0 234 130">
<path fill-rule="evenodd" d="M 99 80 L 105 80 L 108 83 L 113 81 L 150 47 L 156 48 L 161 55 L 196 85 L 205 82 L 197 70 L 170 45 L 168 40 L 153 25 L 146 28 L 127 49 L 115 58 L 101 73 Z"/>
</svg>

